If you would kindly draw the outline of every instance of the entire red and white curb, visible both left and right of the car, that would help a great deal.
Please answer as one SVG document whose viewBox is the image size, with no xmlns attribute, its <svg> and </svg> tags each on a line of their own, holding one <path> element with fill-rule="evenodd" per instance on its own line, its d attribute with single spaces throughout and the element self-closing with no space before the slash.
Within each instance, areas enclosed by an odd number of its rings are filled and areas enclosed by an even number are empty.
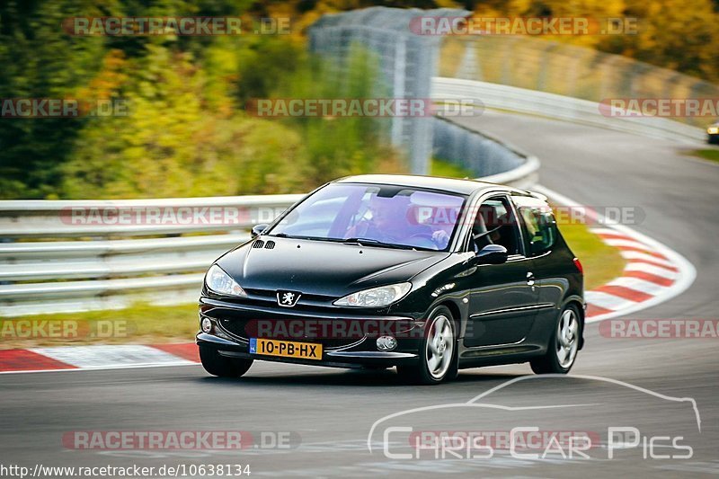
<svg viewBox="0 0 719 479">
<path fill-rule="evenodd" d="M 534 190 L 565 206 L 576 201 L 537 186 Z M 626 260 L 622 276 L 587 291 L 587 323 L 628 315 L 658 305 L 686 290 L 697 276 L 694 266 L 667 246 L 622 225 L 592 228 Z M 0 374 L 86 369 L 155 368 L 200 362 L 195 343 L 61 346 L 31 350 L 0 350 Z"/>
</svg>

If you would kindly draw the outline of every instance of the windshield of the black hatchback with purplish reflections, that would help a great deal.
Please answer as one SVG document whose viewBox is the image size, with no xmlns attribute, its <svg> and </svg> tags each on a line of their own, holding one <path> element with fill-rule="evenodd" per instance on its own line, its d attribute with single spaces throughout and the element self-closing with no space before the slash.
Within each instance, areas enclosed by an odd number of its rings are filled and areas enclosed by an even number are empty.
<svg viewBox="0 0 719 479">
<path fill-rule="evenodd" d="M 289 211 L 268 234 L 447 251 L 465 200 L 404 186 L 330 183 Z"/>
</svg>

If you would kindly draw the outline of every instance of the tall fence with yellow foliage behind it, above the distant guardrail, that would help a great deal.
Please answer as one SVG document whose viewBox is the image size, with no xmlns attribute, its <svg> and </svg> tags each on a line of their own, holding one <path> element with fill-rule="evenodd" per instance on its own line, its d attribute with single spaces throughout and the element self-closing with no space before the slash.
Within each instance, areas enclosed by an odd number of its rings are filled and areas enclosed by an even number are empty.
<svg viewBox="0 0 719 479">
<path fill-rule="evenodd" d="M 519 91 L 554 93 L 564 98 L 707 99 L 719 85 L 676 70 L 655 67 L 531 35 L 449 35 L 443 38 L 436 76 L 513 86 Z M 542 96 L 527 97 L 524 102 Z M 648 119 L 639 119 L 648 120 Z M 712 119 L 677 117 L 672 123 L 706 128 Z"/>
</svg>

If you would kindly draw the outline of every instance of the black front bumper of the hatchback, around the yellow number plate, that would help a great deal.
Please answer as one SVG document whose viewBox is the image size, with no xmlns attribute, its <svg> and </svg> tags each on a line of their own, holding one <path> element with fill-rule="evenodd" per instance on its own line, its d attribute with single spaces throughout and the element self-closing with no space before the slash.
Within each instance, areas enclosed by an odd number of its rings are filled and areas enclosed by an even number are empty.
<svg viewBox="0 0 719 479">
<path fill-rule="evenodd" d="M 207 317 L 212 321 L 213 326 L 210 333 L 198 333 L 196 342 L 200 347 L 215 349 L 220 355 L 229 358 L 259 359 L 335 368 L 389 368 L 413 364 L 418 360 L 418 351 L 422 344 L 423 322 L 409 317 L 353 315 L 350 313 L 354 312 L 320 308 L 316 311 L 288 310 L 287 308 L 241 305 L 201 297 L 200 322 Z M 248 327 L 254 321 L 265 321 L 270 324 L 279 321 L 292 323 L 348 322 L 358 325 L 360 329 L 355 331 L 366 331 L 364 326 L 368 325 L 368 322 L 389 326 L 397 324 L 396 328 L 392 329 L 397 332 L 395 335 L 397 347 L 392 351 L 377 350 L 377 337 L 380 334 L 376 333 L 364 333 L 349 338 L 308 336 L 298 338 L 258 334 L 259 337 L 268 339 L 320 343 L 323 345 L 323 355 L 322 360 L 317 360 L 254 354 L 249 351 L 249 338 L 254 337 L 252 331 L 256 325 Z"/>
</svg>

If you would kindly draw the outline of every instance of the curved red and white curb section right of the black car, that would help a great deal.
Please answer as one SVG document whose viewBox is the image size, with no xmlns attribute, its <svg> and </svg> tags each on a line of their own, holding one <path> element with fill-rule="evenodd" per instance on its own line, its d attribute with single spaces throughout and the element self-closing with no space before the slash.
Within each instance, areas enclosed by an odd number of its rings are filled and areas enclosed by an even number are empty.
<svg viewBox="0 0 719 479">
<path fill-rule="evenodd" d="M 534 190 L 563 206 L 580 205 L 542 186 L 536 186 Z M 687 290 L 697 277 L 694 265 L 668 246 L 628 226 L 611 224 L 601 215 L 595 215 L 593 219 L 602 226 L 590 230 L 604 243 L 617 248 L 626 260 L 626 266 L 620 277 L 584 293 L 587 323 L 636 313 L 663 303 Z"/>
</svg>

